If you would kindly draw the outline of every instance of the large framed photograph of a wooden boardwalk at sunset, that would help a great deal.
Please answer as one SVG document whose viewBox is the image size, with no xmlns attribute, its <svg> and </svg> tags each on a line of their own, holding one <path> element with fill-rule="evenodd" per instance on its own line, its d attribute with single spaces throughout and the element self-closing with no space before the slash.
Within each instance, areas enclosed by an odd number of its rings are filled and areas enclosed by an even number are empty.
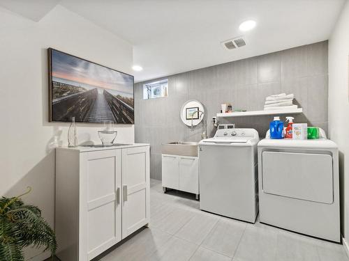
<svg viewBox="0 0 349 261">
<path fill-rule="evenodd" d="M 50 122 L 134 123 L 134 78 L 48 49 Z"/>
</svg>

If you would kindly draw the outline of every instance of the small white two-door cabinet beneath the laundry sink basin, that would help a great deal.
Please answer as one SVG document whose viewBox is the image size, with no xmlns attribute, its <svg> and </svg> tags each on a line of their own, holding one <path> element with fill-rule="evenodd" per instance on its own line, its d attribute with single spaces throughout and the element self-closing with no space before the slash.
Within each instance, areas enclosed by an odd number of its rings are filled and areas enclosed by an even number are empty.
<svg viewBox="0 0 349 261">
<path fill-rule="evenodd" d="M 162 155 L 163 188 L 199 194 L 198 157 Z"/>
</svg>

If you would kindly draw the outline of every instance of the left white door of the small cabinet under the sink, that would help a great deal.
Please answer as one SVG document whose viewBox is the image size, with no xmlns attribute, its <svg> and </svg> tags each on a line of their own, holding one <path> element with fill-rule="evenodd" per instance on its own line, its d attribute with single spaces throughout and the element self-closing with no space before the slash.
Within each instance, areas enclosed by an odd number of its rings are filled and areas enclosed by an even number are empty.
<svg viewBox="0 0 349 261">
<path fill-rule="evenodd" d="M 163 187 L 179 189 L 179 157 L 176 155 L 162 155 L 162 183 Z"/>
</svg>

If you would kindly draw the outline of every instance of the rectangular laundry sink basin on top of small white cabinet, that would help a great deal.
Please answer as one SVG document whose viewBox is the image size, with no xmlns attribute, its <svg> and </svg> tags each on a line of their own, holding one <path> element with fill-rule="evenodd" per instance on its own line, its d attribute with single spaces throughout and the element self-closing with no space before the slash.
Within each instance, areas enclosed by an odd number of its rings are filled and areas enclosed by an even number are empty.
<svg viewBox="0 0 349 261">
<path fill-rule="evenodd" d="M 170 155 L 198 157 L 198 143 L 188 141 L 163 143 L 161 152 Z"/>
</svg>

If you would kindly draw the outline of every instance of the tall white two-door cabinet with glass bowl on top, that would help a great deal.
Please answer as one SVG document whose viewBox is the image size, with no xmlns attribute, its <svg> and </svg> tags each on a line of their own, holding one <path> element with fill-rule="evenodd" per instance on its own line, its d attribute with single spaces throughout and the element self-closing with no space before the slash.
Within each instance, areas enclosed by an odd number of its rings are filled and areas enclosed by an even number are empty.
<svg viewBox="0 0 349 261">
<path fill-rule="evenodd" d="M 57 148 L 57 257 L 86 261 L 149 223 L 149 145 Z"/>
</svg>

